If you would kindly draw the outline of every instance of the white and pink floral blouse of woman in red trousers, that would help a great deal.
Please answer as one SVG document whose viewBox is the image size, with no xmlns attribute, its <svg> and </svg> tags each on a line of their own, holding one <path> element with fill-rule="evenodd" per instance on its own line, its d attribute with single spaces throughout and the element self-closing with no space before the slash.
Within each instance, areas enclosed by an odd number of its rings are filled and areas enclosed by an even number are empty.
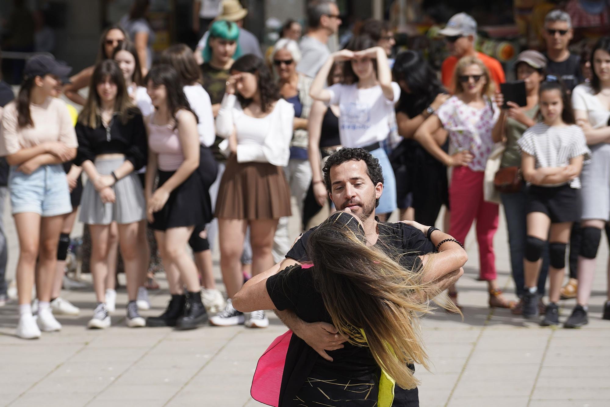
<svg viewBox="0 0 610 407">
<path fill-rule="evenodd" d="M 500 109 L 485 97 L 485 107 L 476 109 L 468 106 L 458 96 L 451 96 L 436 115 L 449 132 L 449 140 L 454 151 L 470 151 L 473 160 L 468 168 L 485 171 L 487 158 L 492 152 L 492 129 L 500 116 Z"/>
</svg>

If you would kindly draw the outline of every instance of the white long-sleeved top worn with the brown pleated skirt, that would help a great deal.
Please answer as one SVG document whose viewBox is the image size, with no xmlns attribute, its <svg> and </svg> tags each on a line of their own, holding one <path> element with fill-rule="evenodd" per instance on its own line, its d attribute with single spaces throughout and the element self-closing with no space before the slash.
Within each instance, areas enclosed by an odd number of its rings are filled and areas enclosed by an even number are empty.
<svg viewBox="0 0 610 407">
<path fill-rule="evenodd" d="M 228 138 L 237 135 L 237 162 L 268 162 L 288 165 L 295 109 L 279 99 L 273 110 L 261 118 L 243 112 L 237 96 L 225 94 L 216 118 L 216 133 Z"/>
</svg>

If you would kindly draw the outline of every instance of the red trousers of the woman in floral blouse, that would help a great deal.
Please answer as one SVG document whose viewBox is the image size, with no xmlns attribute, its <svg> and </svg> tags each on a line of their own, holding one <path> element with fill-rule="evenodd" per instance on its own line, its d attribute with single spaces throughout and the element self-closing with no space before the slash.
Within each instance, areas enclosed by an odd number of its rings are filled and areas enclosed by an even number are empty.
<svg viewBox="0 0 610 407">
<path fill-rule="evenodd" d="M 456 167 L 449 187 L 451 208 L 449 234 L 464 243 L 476 219 L 476 240 L 479 243 L 479 278 L 497 278 L 493 235 L 498 230 L 498 205 L 483 200 L 483 171 Z"/>
</svg>

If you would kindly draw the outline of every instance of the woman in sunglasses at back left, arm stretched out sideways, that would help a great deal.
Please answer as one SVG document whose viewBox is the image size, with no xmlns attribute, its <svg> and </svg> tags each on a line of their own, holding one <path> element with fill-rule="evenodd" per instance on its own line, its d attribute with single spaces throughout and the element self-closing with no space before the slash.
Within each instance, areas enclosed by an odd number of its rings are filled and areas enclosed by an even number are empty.
<svg viewBox="0 0 610 407">
<path fill-rule="evenodd" d="M 104 59 L 112 58 L 112 52 L 114 49 L 126 39 L 127 34 L 121 26 L 110 26 L 104 30 L 102 35 L 99 37 L 98 56 L 95 63 L 97 64 L 102 62 Z M 91 65 L 91 67 L 87 67 L 76 75 L 70 77 L 70 83 L 63 87 L 63 93 L 66 95 L 66 98 L 70 99 L 76 104 L 80 104 L 81 106 L 85 105 L 86 100 L 79 94 L 78 91 L 89 85 L 94 69 L 95 65 Z"/>
</svg>

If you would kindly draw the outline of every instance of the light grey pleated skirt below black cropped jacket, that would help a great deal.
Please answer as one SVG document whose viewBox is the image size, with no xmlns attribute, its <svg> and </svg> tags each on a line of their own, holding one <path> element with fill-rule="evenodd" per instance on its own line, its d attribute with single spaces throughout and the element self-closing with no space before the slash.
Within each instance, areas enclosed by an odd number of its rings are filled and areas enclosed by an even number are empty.
<svg viewBox="0 0 610 407">
<path fill-rule="evenodd" d="M 124 157 L 96 159 L 95 168 L 100 175 L 110 175 L 125 161 Z M 117 196 L 115 203 L 102 203 L 93 182 L 87 180 L 82 193 L 81 222 L 87 225 L 110 225 L 140 222 L 146 218 L 146 202 L 142 183 L 135 172 L 118 180 L 112 186 Z"/>
</svg>

